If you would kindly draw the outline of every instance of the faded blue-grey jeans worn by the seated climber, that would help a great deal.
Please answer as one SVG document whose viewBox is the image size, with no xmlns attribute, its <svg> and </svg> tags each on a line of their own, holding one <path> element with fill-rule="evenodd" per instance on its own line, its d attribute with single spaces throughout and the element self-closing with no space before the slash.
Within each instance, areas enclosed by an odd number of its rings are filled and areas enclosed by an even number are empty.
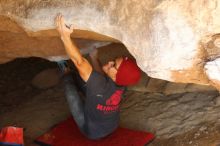
<svg viewBox="0 0 220 146">
<path fill-rule="evenodd" d="M 64 75 L 62 79 L 71 114 L 81 133 L 89 139 L 100 139 L 101 137 L 92 135 L 91 132 L 89 132 L 88 125 L 91 126 L 93 124 L 89 123 L 89 120 L 87 120 L 85 116 L 85 104 L 79 95 L 79 90 L 83 93 L 84 96 L 86 95 L 86 83 L 77 73 L 74 73 L 73 75 Z"/>
</svg>

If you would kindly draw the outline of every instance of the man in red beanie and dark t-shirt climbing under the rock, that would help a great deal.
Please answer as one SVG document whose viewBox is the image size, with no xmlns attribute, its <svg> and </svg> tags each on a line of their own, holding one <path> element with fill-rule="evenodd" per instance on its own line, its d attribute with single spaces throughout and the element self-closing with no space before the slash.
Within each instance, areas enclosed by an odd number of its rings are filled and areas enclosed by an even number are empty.
<svg viewBox="0 0 220 146">
<path fill-rule="evenodd" d="M 55 23 L 66 52 L 76 68 L 66 61 L 58 62 L 72 116 L 87 138 L 103 138 L 118 127 L 119 106 L 125 86 L 139 81 L 140 69 L 128 57 L 116 58 L 100 67 L 96 49 L 89 54 L 92 67 L 70 38 L 73 26 L 68 27 L 61 14 L 56 16 Z M 77 86 L 82 87 L 85 101 L 80 98 Z"/>
</svg>

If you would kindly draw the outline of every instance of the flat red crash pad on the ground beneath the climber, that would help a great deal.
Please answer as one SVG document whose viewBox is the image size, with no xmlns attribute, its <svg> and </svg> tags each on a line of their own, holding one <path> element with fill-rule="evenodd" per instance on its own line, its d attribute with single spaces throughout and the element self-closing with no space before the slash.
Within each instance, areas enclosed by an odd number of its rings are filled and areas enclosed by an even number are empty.
<svg viewBox="0 0 220 146">
<path fill-rule="evenodd" d="M 38 137 L 36 143 L 49 146 L 144 146 L 153 139 L 152 133 L 118 128 L 103 139 L 89 140 L 80 133 L 73 118 L 69 118 Z"/>
</svg>

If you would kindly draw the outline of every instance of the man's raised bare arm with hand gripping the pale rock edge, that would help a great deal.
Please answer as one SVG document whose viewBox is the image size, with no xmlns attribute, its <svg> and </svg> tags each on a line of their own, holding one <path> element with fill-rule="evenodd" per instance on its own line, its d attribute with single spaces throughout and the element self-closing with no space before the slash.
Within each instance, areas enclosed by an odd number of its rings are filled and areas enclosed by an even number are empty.
<svg viewBox="0 0 220 146">
<path fill-rule="evenodd" d="M 92 72 L 92 66 L 90 63 L 81 55 L 79 48 L 72 42 L 70 34 L 73 32 L 73 27 L 68 28 L 64 23 L 64 18 L 61 14 L 56 17 L 57 31 L 61 36 L 61 40 L 64 43 L 67 54 L 75 64 L 79 71 L 81 78 L 86 82 Z"/>
</svg>

